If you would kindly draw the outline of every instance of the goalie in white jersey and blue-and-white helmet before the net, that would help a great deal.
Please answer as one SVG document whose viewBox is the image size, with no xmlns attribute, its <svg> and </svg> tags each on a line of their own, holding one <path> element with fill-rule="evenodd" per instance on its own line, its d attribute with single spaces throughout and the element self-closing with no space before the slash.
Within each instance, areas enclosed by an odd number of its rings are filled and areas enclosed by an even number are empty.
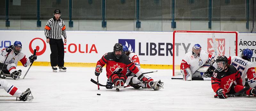
<svg viewBox="0 0 256 111">
<path fill-rule="evenodd" d="M 214 57 L 202 50 L 199 44 L 192 47 L 192 51 L 185 54 L 180 64 L 180 70 L 183 80 L 192 80 L 192 77 L 204 75 L 203 72 L 197 70 L 205 63 L 211 63 Z"/>
</svg>

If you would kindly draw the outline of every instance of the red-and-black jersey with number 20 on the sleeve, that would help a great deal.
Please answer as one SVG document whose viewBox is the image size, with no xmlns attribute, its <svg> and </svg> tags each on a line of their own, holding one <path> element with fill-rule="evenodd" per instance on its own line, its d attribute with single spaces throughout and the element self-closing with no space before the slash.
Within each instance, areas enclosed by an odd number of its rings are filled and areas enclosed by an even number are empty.
<svg viewBox="0 0 256 111">
<path fill-rule="evenodd" d="M 228 72 L 215 70 L 212 74 L 212 89 L 215 93 L 219 88 L 228 93 L 231 85 L 235 83 L 243 86 L 240 73 L 234 66 L 228 66 Z"/>
</svg>

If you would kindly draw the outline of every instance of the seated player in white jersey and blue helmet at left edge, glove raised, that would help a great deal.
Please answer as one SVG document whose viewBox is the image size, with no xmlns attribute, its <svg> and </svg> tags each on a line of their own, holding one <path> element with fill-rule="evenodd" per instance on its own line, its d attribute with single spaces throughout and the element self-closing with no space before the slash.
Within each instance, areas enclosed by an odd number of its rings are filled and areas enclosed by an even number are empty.
<svg viewBox="0 0 256 111">
<path fill-rule="evenodd" d="M 32 61 L 37 59 L 36 55 L 31 55 L 28 59 L 26 58 L 26 55 L 21 52 L 22 50 L 22 44 L 20 41 L 15 41 L 13 45 L 4 48 L 1 51 L 1 55 L 4 56 L 0 63 L 0 68 L 3 70 L 0 73 L 0 77 L 4 77 L 4 75 L 10 75 L 7 77 L 12 77 L 14 80 L 17 78 L 20 78 L 21 70 L 16 70 L 18 61 L 21 62 L 21 64 L 24 67 L 29 66 Z M 4 77 L 5 78 L 5 77 Z"/>
</svg>

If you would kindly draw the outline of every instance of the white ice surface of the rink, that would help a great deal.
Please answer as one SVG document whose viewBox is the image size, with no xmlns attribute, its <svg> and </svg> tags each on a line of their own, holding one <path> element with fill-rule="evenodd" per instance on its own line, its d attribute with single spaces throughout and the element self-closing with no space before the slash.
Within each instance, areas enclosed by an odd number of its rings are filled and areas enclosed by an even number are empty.
<svg viewBox="0 0 256 111">
<path fill-rule="evenodd" d="M 18 66 L 21 78 L 28 67 Z M 50 66 L 32 66 L 25 79 L 9 83 L 21 91 L 30 88 L 32 102 L 0 101 L 0 111 L 255 111 L 255 98 L 214 98 L 210 80 L 171 80 L 172 70 L 158 70 L 149 73 L 154 80 L 161 79 L 164 89 L 134 89 L 126 87 L 117 92 L 93 84 L 97 80 L 93 67 L 67 67 L 67 72 L 53 73 Z M 156 71 L 146 69 L 147 72 Z M 178 76 L 181 78 L 181 76 Z M 99 76 L 99 83 L 105 85 L 106 71 Z M 100 96 L 97 93 L 101 94 Z M 0 89 L 0 95 L 9 95 Z"/>
</svg>

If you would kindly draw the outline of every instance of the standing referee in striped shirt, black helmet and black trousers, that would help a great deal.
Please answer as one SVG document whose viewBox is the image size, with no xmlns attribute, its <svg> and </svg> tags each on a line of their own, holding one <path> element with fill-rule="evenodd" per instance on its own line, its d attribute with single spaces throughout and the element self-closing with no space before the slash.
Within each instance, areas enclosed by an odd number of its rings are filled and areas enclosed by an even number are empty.
<svg viewBox="0 0 256 111">
<path fill-rule="evenodd" d="M 60 10 L 54 10 L 53 15 L 54 17 L 49 19 L 44 27 L 46 42 L 50 44 L 52 52 L 50 55 L 51 66 L 53 72 L 57 72 L 57 65 L 59 66 L 59 71 L 66 72 L 67 68 L 64 67 L 64 44 L 62 39 L 63 36 L 64 42 L 67 43 L 66 26 L 60 18 Z"/>
</svg>

